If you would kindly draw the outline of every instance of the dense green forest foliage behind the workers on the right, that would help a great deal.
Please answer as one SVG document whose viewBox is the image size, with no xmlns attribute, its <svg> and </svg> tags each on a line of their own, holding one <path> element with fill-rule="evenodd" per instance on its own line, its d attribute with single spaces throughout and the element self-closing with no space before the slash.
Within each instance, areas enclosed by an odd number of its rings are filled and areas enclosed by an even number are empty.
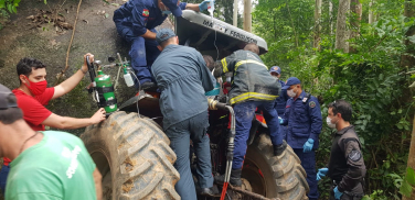
<svg viewBox="0 0 415 200">
<path fill-rule="evenodd" d="M 268 43 L 268 53 L 262 56 L 267 66 L 278 65 L 283 78 L 296 76 L 302 88 L 323 99 L 323 119 L 327 104 L 344 99 L 353 107 L 352 124 L 359 133 L 368 168 L 365 199 L 400 199 L 412 189 L 413 170 L 406 173 L 413 95 L 408 86 L 414 70 L 402 63 L 403 56 L 415 57 L 415 42 L 406 36 L 414 19 L 403 15 L 404 0 L 376 0 L 371 8 L 376 20 L 368 23 L 369 2 L 363 3 L 360 36 L 349 40 L 355 53 L 334 49 L 338 1 L 329 13 L 323 1 L 320 48 L 312 46 L 315 0 L 258 0 L 253 14 L 254 32 Z M 349 15 L 349 21 L 352 15 Z M 349 24 L 350 25 L 350 24 Z M 355 29 L 355 27 L 349 27 Z M 323 125 L 318 149 L 318 167 L 327 165 L 332 130 Z M 412 177 L 412 178 L 408 178 Z M 322 181 L 322 199 L 328 197 L 329 182 Z M 409 192 L 411 193 L 411 192 Z"/>
</svg>

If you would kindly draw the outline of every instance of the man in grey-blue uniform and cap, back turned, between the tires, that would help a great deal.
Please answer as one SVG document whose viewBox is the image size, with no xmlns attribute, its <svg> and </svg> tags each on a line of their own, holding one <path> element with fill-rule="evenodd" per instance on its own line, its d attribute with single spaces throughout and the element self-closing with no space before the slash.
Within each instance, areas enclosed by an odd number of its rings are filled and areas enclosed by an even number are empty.
<svg viewBox="0 0 415 200">
<path fill-rule="evenodd" d="M 208 99 L 204 96 L 204 92 L 213 89 L 215 80 L 202 55 L 194 48 L 179 45 L 179 38 L 172 30 L 160 30 L 157 42 L 162 52 L 151 71 L 161 91 L 163 130 L 177 155 L 174 167 L 180 174 L 180 180 L 175 184 L 175 191 L 183 200 L 196 199 L 189 158 L 192 140 L 198 157 L 199 193 L 215 196 L 219 191 L 213 187 Z"/>
</svg>

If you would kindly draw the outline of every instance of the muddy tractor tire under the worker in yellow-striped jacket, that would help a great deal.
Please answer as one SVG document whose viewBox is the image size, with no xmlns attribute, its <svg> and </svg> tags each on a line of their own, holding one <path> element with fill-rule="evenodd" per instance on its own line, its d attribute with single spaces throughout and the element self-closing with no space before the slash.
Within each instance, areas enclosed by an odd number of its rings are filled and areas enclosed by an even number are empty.
<svg viewBox="0 0 415 200">
<path fill-rule="evenodd" d="M 255 138 L 246 152 L 242 178 L 249 182 L 249 190 L 267 198 L 306 200 L 309 187 L 306 171 L 291 147 L 274 156 L 267 134 Z"/>
</svg>

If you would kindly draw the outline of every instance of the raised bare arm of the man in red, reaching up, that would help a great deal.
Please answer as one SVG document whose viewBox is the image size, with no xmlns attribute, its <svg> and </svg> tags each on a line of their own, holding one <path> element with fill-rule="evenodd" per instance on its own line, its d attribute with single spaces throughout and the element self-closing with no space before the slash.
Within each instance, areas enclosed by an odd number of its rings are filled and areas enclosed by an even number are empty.
<svg viewBox="0 0 415 200">
<path fill-rule="evenodd" d="M 68 93 L 73 90 L 84 78 L 85 74 L 88 71 L 88 66 L 86 65 L 86 56 L 89 56 L 89 62 L 94 62 L 94 55 L 87 53 L 84 55 L 84 65 L 79 70 L 77 70 L 72 77 L 66 79 L 65 81 L 61 82 L 60 85 L 55 86 L 55 92 L 53 93 L 52 99 L 56 99 Z"/>
</svg>

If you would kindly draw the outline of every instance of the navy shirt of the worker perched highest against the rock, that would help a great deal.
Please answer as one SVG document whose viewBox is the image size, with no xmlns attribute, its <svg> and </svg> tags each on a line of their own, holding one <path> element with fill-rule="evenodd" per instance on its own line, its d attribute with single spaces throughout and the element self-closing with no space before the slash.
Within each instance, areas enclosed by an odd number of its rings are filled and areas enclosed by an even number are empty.
<svg viewBox="0 0 415 200">
<path fill-rule="evenodd" d="M 188 3 L 181 2 L 179 8 L 185 9 Z M 157 0 L 129 0 L 114 11 L 114 22 L 132 27 L 134 35 L 140 36 L 163 23 L 168 15 L 163 15 Z"/>
</svg>

